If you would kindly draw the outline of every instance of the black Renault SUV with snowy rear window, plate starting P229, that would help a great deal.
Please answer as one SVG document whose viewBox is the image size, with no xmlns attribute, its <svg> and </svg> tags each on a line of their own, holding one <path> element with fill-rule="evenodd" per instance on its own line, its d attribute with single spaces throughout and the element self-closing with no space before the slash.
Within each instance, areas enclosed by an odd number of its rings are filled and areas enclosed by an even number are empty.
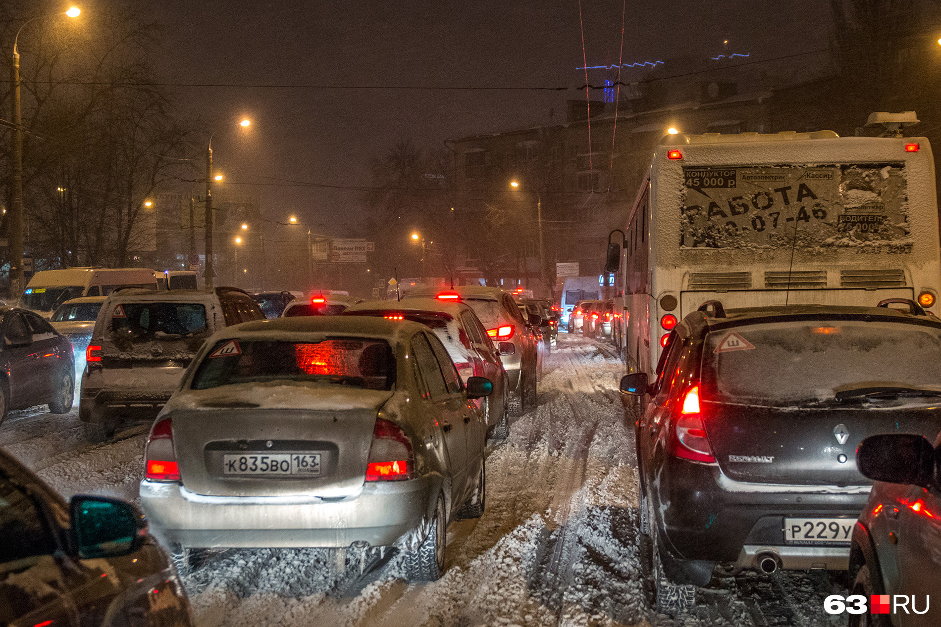
<svg viewBox="0 0 941 627">
<path fill-rule="evenodd" d="M 888 308 L 896 303 L 908 311 Z M 713 572 L 846 570 L 871 480 L 854 451 L 941 429 L 941 320 L 877 307 L 705 303 L 670 333 L 636 423 L 642 555 L 660 611 Z"/>
</svg>

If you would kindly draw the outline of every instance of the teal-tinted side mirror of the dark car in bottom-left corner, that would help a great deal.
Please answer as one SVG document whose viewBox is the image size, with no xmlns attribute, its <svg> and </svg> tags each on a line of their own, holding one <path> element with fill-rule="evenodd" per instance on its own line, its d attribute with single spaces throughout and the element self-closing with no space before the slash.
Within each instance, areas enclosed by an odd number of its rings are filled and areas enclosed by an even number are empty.
<svg viewBox="0 0 941 627">
<path fill-rule="evenodd" d="M 72 547 L 82 559 L 126 556 L 147 539 L 144 516 L 117 498 L 72 496 L 69 510 Z"/>
</svg>

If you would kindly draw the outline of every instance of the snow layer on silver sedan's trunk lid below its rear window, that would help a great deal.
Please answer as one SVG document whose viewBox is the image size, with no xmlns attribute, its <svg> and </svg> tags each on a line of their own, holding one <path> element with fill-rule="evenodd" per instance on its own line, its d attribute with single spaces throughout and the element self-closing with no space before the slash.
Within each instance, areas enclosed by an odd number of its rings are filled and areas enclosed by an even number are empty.
<svg viewBox="0 0 941 627">
<path fill-rule="evenodd" d="M 161 414 L 175 410 L 231 408 L 315 409 L 378 411 L 391 398 L 392 390 L 368 390 L 333 384 L 267 383 L 220 385 L 205 390 L 178 390 Z"/>
</svg>

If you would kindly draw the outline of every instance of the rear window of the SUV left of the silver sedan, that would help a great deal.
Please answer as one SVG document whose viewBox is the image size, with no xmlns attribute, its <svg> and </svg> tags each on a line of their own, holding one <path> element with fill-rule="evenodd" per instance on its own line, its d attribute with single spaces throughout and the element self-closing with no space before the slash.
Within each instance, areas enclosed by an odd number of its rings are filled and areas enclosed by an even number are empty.
<svg viewBox="0 0 941 627">
<path fill-rule="evenodd" d="M 194 337 L 206 328 L 198 303 L 121 303 L 111 314 L 111 335 L 131 343 Z"/>
</svg>

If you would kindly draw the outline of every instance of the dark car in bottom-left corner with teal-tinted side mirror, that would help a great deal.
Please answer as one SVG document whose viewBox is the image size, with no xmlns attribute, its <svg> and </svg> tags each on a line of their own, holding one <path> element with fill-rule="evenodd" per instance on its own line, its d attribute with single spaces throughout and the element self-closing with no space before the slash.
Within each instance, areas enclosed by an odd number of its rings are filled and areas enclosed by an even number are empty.
<svg viewBox="0 0 941 627">
<path fill-rule="evenodd" d="M 190 625 L 189 602 L 133 507 L 66 503 L 0 451 L 0 625 Z"/>
</svg>

